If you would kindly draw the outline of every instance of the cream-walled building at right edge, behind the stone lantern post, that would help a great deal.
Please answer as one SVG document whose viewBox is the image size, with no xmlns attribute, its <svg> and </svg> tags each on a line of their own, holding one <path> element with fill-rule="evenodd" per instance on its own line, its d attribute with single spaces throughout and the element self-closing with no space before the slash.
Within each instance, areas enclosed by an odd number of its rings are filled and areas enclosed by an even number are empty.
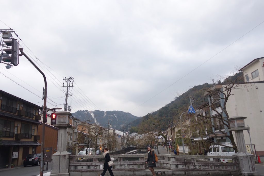
<svg viewBox="0 0 264 176">
<path fill-rule="evenodd" d="M 254 59 L 239 71 L 243 71 L 245 83 L 238 84 L 227 104 L 229 117 L 236 115 L 247 117 L 245 125 L 250 127 L 252 144 L 257 155 L 264 155 L 264 57 Z M 221 84 L 216 84 L 221 85 Z M 223 85 L 221 85 L 223 86 Z M 250 144 L 249 134 L 244 132 L 246 145 Z M 233 132 L 233 136 L 234 132 Z M 253 147 L 254 150 L 254 147 Z"/>
</svg>

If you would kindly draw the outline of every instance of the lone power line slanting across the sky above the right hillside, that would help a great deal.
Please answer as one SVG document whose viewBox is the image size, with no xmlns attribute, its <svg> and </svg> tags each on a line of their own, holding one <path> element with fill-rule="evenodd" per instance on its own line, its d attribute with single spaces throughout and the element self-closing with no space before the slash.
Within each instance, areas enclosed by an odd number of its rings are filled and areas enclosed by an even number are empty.
<svg viewBox="0 0 264 176">
<path fill-rule="evenodd" d="M 194 68 L 193 70 L 191 70 L 190 72 L 188 72 L 186 75 L 184 75 L 183 77 L 181 77 L 180 79 L 178 79 L 177 81 L 175 81 L 174 83 L 172 83 L 171 85 L 169 85 L 168 87 L 166 87 L 165 89 L 163 89 L 162 91 L 158 92 L 156 95 L 154 95 L 153 97 L 151 97 L 150 99 L 148 99 L 147 101 L 145 101 L 144 103 L 140 104 L 139 106 L 142 106 L 143 104 L 147 103 L 149 100 L 153 99 L 155 96 L 159 95 L 161 92 L 165 91 L 166 89 L 168 89 L 169 87 L 171 87 L 172 85 L 174 85 L 175 83 L 177 83 L 178 81 L 182 80 L 184 77 L 186 77 L 187 75 L 189 75 L 190 73 L 192 73 L 193 71 L 195 71 L 197 68 L 201 67 L 203 64 L 205 64 L 206 62 L 210 61 L 212 58 L 214 58 L 216 55 L 218 55 L 219 53 L 221 53 L 222 51 L 224 51 L 225 49 L 227 49 L 229 46 L 231 46 L 232 44 L 234 44 L 236 41 L 238 41 L 239 39 L 241 39 L 243 36 L 247 35 L 249 32 L 251 32 L 252 30 L 254 30 L 256 27 L 258 27 L 259 25 L 261 25 L 264 21 L 262 21 L 260 24 L 258 24 L 257 26 L 253 27 L 253 29 L 249 30 L 246 34 L 242 35 L 241 37 L 239 37 L 237 40 L 235 40 L 234 42 L 232 42 L 231 44 L 229 44 L 227 47 L 225 47 L 224 49 L 222 49 L 221 51 L 219 51 L 218 53 L 216 53 L 215 55 L 213 55 L 213 57 L 209 58 L 208 60 L 206 60 L 205 62 L 203 62 L 202 64 L 200 64 L 199 66 L 197 66 L 196 68 Z M 139 106 L 136 106 L 134 109 L 132 109 L 131 111 L 135 110 L 136 108 L 138 108 Z M 129 111 L 129 113 L 131 112 Z"/>
</svg>

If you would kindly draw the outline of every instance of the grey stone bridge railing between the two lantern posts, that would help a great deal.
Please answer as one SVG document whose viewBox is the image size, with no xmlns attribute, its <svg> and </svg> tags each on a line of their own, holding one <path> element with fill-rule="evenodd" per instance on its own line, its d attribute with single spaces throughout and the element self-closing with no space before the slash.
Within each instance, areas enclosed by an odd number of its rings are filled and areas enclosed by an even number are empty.
<svg viewBox="0 0 264 176">
<path fill-rule="evenodd" d="M 159 160 L 156 169 L 167 169 L 172 171 L 207 171 L 207 172 L 227 172 L 233 175 L 239 174 L 239 163 L 236 156 L 199 156 L 199 155 L 168 155 L 157 154 Z M 145 160 L 147 154 L 136 155 L 110 155 L 114 158 L 114 171 L 134 171 L 148 168 Z M 209 161 L 209 159 L 214 161 Z M 230 160 L 228 163 L 221 163 L 219 159 Z M 69 172 L 102 172 L 104 158 L 103 155 L 70 155 Z M 228 175 L 228 174 L 227 174 Z"/>
</svg>

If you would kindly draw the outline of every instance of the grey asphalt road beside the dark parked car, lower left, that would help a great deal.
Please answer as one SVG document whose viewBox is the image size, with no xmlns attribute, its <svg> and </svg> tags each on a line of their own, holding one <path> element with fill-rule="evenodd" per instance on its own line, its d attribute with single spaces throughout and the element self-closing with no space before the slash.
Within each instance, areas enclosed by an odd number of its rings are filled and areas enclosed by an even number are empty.
<svg viewBox="0 0 264 176">
<path fill-rule="evenodd" d="M 49 163 L 49 169 L 45 170 L 43 173 L 50 172 L 51 162 Z M 46 169 L 46 165 L 44 165 L 44 169 Z M 10 169 L 0 169 L 0 175 L 3 176 L 36 176 L 39 175 L 40 166 L 18 166 Z"/>
</svg>

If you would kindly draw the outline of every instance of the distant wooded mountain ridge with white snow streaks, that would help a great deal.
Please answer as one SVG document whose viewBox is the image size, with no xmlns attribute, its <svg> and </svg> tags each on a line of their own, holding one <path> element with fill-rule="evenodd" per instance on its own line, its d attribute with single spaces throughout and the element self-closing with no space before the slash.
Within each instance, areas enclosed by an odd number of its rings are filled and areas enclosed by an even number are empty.
<svg viewBox="0 0 264 176">
<path fill-rule="evenodd" d="M 97 124 L 102 127 L 108 127 L 108 119 L 111 119 L 109 122 L 112 125 L 112 128 L 115 129 L 122 129 L 122 126 L 124 125 L 123 122 L 127 125 L 128 123 L 141 118 L 123 111 L 78 110 L 77 112 L 72 113 L 72 115 L 83 122 Z"/>
</svg>

